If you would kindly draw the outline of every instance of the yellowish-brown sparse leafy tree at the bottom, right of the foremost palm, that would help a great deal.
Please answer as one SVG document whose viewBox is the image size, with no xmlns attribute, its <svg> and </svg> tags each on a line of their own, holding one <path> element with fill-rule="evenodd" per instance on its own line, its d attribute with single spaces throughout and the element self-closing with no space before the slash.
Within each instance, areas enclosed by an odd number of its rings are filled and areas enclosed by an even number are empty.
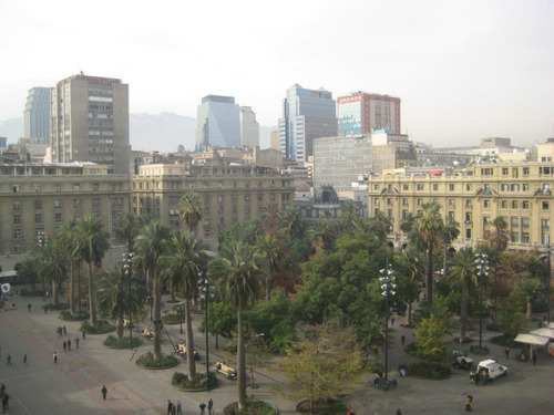
<svg viewBox="0 0 554 415">
<path fill-rule="evenodd" d="M 362 369 L 361 352 L 352 329 L 325 323 L 312 333 L 299 333 L 299 340 L 287 349 L 281 369 L 288 378 L 281 393 L 310 402 L 337 398 L 353 388 Z"/>
</svg>

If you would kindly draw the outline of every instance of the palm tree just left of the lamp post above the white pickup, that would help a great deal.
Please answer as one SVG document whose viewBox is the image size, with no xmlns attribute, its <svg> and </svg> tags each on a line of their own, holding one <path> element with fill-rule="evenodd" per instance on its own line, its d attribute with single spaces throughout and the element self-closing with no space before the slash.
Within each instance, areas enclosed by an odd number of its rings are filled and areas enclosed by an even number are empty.
<svg viewBox="0 0 554 415">
<path fill-rule="evenodd" d="M 462 292 L 462 307 L 460 310 L 460 336 L 465 336 L 468 325 L 468 300 L 470 291 L 479 287 L 475 253 L 471 248 L 462 248 L 454 256 L 453 266 L 447 274 L 447 281 L 453 289 Z"/>
</svg>

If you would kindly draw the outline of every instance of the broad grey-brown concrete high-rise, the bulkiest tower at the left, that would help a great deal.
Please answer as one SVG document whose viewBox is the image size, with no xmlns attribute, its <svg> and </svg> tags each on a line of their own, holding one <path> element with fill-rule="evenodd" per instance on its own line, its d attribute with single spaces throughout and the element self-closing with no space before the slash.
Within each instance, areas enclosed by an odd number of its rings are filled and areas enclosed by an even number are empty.
<svg viewBox="0 0 554 415">
<path fill-rule="evenodd" d="M 109 77 L 70 76 L 52 90 L 52 160 L 93 162 L 130 173 L 129 85 Z"/>
</svg>

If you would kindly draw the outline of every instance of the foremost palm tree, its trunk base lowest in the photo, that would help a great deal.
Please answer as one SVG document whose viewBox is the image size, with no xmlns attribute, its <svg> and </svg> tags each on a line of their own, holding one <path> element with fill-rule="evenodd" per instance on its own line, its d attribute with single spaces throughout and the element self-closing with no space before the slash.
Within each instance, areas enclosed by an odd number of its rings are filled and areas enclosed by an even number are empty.
<svg viewBox="0 0 554 415">
<path fill-rule="evenodd" d="M 215 279 L 217 292 L 226 304 L 237 311 L 237 378 L 238 409 L 246 408 L 246 364 L 244 312 L 260 289 L 260 266 L 258 250 L 242 241 L 224 243 L 219 258 L 208 264 L 209 274 Z"/>
</svg>

